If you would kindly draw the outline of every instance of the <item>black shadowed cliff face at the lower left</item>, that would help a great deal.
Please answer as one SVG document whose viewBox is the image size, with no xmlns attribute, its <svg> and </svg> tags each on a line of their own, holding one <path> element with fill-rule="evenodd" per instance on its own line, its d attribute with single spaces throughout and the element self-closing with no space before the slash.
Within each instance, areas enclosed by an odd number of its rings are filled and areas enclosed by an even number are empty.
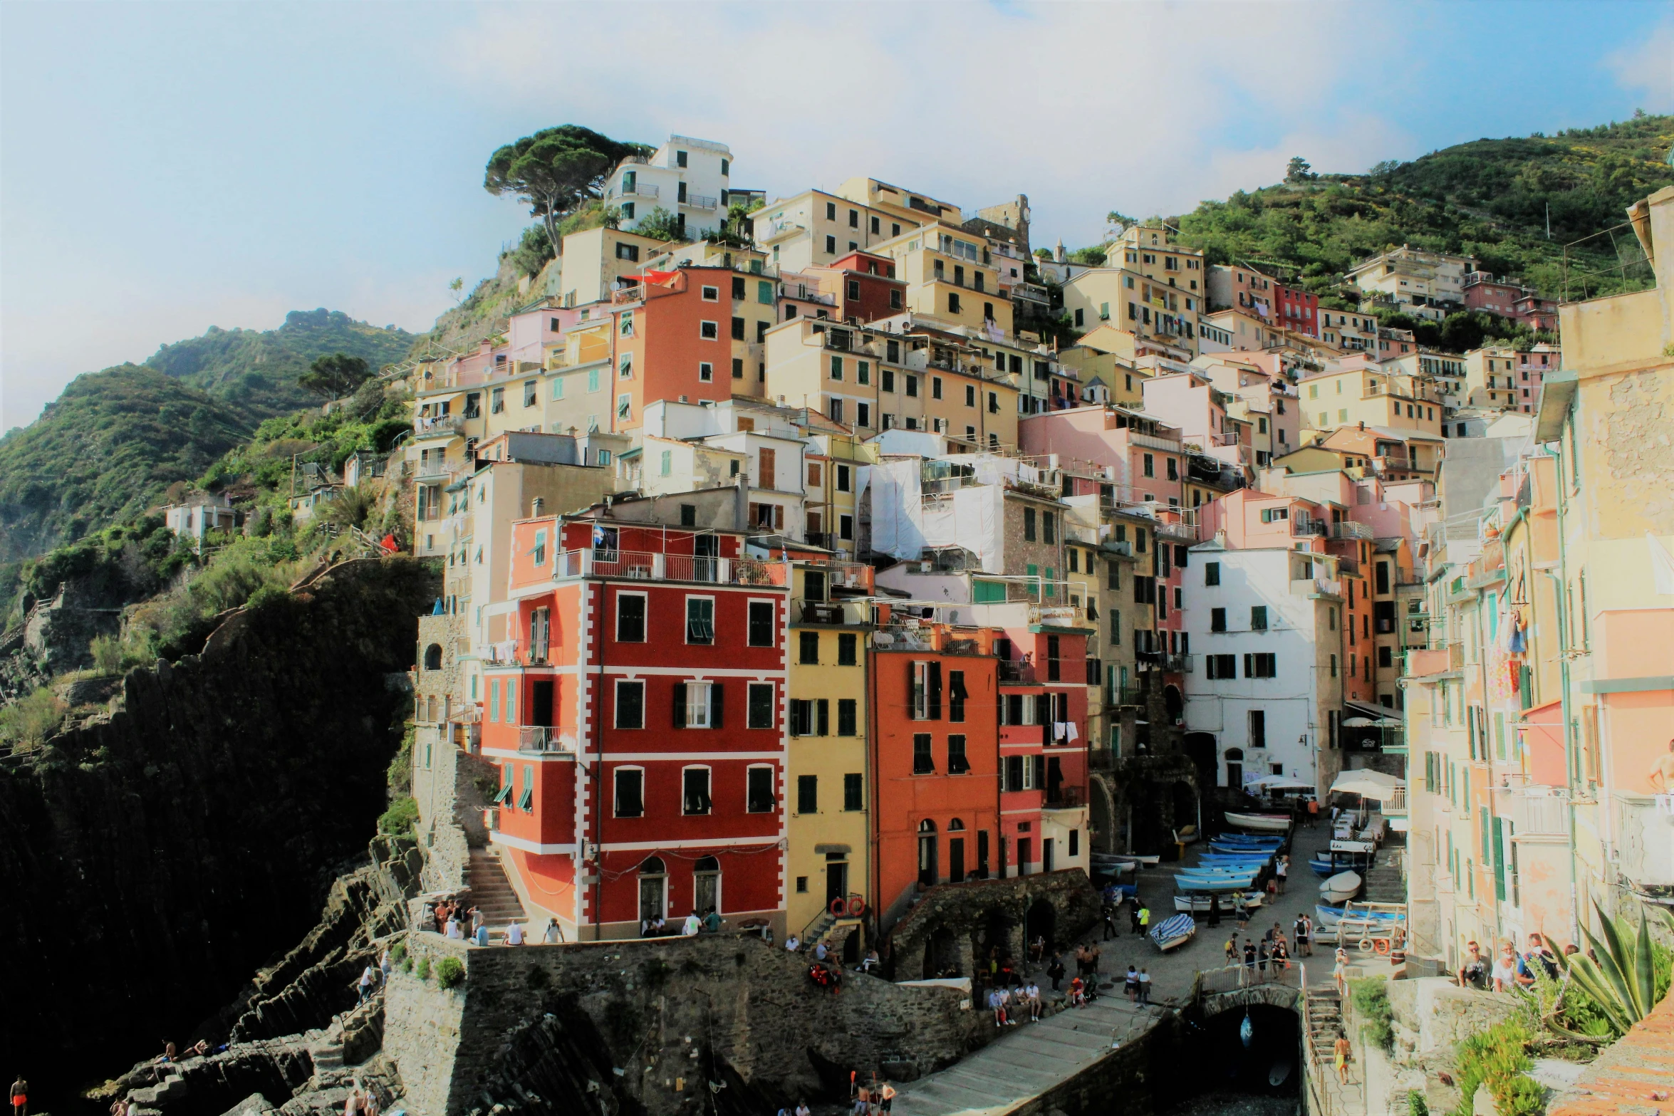
<svg viewBox="0 0 1674 1116">
<path fill-rule="evenodd" d="M 199 1037 L 315 925 L 383 810 L 407 711 L 388 676 L 432 597 L 418 562 L 345 564 L 201 656 L 131 671 L 107 721 L 0 761 L 0 1049 L 54 1111 L 100 1067 Z"/>
</svg>

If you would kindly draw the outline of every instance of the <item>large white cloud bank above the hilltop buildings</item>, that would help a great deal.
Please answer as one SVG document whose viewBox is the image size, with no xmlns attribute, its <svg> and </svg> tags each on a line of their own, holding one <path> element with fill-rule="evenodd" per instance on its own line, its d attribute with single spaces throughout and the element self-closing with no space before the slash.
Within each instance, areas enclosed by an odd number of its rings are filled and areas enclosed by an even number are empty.
<svg viewBox="0 0 1674 1116">
<path fill-rule="evenodd" d="M 864 174 L 968 209 L 1026 192 L 1045 236 L 1180 212 L 1279 179 L 1292 154 L 1364 169 L 1399 134 L 1364 110 L 1379 8 L 1257 3 L 586 5 L 482 8 L 449 37 L 462 89 L 552 120 L 732 146 L 770 192 Z M 691 59 L 690 65 L 681 59 Z M 1353 82 L 1353 97 L 1334 97 Z M 603 124 L 596 124 L 603 127 Z"/>
</svg>

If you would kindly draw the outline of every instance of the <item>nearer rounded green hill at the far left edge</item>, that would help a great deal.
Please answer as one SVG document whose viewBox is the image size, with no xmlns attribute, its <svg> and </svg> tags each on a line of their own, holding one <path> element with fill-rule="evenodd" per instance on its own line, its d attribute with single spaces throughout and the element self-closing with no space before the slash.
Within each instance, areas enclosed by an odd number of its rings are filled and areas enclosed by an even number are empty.
<svg viewBox="0 0 1674 1116">
<path fill-rule="evenodd" d="M 89 371 L 0 438 L 0 561 L 132 519 L 249 437 L 233 407 L 142 365 Z"/>
</svg>

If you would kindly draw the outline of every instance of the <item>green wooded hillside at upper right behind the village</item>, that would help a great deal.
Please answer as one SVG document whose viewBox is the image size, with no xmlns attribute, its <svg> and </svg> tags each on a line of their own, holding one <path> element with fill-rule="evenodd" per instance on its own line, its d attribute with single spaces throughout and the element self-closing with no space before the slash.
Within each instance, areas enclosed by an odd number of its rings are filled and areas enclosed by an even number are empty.
<svg viewBox="0 0 1674 1116">
<path fill-rule="evenodd" d="M 1476 256 L 1481 269 L 1520 276 L 1570 299 L 1651 281 L 1622 224 L 1641 197 L 1674 186 L 1674 117 L 1644 115 L 1527 139 L 1478 139 L 1369 174 L 1306 174 L 1173 218 L 1180 239 L 1212 263 L 1279 264 L 1333 305 L 1339 276 L 1396 244 Z M 1547 239 L 1547 216 L 1552 236 Z M 1570 248 L 1565 291 L 1564 246 Z M 1622 256 L 1617 256 L 1617 248 Z"/>
</svg>

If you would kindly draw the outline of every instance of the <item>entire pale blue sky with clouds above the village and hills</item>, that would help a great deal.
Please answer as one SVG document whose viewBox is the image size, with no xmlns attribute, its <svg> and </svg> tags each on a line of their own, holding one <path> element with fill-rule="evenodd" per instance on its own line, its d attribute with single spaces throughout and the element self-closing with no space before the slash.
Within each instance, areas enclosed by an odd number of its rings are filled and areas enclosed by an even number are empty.
<svg viewBox="0 0 1674 1116">
<path fill-rule="evenodd" d="M 0 428 L 82 371 L 326 306 L 424 330 L 562 122 L 867 174 L 1035 241 L 1481 136 L 1674 110 L 1674 5 L 0 3 Z"/>
</svg>

